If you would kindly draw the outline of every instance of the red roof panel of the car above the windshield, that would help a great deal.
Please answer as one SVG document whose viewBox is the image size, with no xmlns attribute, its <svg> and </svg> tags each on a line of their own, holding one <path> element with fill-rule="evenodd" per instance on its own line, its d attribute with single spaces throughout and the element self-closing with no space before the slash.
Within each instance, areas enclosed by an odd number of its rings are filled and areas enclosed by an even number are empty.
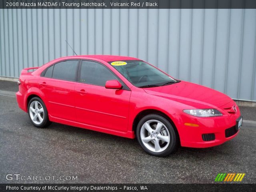
<svg viewBox="0 0 256 192">
<path fill-rule="evenodd" d="M 139 60 L 134 57 L 127 57 L 127 56 L 117 56 L 117 55 L 77 55 L 77 56 L 69 56 L 64 57 L 63 59 L 74 59 L 74 58 L 84 58 L 84 59 L 98 59 L 105 62 L 110 61 L 122 61 L 122 60 Z"/>
</svg>

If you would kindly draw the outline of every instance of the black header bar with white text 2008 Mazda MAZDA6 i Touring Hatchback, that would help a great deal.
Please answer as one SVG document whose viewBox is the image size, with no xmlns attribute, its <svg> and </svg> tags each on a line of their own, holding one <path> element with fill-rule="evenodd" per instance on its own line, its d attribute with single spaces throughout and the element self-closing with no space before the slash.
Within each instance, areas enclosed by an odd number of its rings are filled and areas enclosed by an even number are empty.
<svg viewBox="0 0 256 192">
<path fill-rule="evenodd" d="M 0 9 L 256 9 L 256 0 L 1 0 Z"/>
</svg>

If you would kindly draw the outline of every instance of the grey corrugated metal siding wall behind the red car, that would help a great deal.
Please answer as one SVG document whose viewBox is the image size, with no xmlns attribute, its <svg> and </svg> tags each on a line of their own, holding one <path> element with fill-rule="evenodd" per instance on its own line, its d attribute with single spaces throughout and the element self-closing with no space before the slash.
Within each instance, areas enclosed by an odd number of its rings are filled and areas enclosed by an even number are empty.
<svg viewBox="0 0 256 192">
<path fill-rule="evenodd" d="M 255 9 L 0 10 L 0 76 L 78 54 L 146 60 L 172 76 L 256 100 Z"/>
</svg>

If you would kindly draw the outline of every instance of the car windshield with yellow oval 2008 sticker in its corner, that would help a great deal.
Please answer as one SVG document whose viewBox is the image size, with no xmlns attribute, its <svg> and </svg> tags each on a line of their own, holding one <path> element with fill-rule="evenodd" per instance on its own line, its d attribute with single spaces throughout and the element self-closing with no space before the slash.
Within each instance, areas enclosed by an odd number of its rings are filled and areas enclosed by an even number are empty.
<svg viewBox="0 0 256 192">
<path fill-rule="evenodd" d="M 157 87 L 180 82 L 141 60 L 109 63 L 136 87 Z"/>
</svg>

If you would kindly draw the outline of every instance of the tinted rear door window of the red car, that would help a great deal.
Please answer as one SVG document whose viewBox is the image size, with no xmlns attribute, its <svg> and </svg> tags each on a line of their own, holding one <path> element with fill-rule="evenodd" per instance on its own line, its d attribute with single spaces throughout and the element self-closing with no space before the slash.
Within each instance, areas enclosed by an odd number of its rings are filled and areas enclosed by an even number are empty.
<svg viewBox="0 0 256 192">
<path fill-rule="evenodd" d="M 52 78 L 76 81 L 77 65 L 78 60 L 68 60 L 56 63 L 53 68 Z"/>
</svg>

